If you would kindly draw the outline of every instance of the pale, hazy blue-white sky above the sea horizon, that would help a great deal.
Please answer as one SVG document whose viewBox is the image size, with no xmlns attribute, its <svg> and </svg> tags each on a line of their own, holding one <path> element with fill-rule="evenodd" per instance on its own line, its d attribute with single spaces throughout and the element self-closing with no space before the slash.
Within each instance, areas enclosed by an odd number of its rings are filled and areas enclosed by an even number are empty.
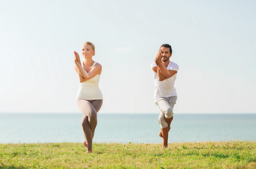
<svg viewBox="0 0 256 169">
<path fill-rule="evenodd" d="M 159 113 L 150 64 L 171 44 L 174 113 L 256 113 L 254 0 L 1 0 L 0 113 L 78 113 L 73 51 L 96 46 L 100 113 Z M 82 58 L 81 58 L 82 59 Z"/>
</svg>

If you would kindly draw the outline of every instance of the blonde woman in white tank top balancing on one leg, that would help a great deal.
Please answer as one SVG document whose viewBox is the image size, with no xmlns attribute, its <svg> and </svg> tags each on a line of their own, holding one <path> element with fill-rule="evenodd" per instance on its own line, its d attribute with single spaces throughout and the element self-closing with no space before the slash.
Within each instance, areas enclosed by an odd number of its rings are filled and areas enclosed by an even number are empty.
<svg viewBox="0 0 256 169">
<path fill-rule="evenodd" d="M 99 77 L 102 73 L 102 65 L 92 60 L 95 56 L 95 45 L 85 42 L 82 46 L 82 54 L 85 58 L 80 62 L 78 53 L 75 53 L 75 71 L 80 80 L 78 91 L 78 108 L 83 112 L 82 127 L 85 135 L 87 153 L 92 153 L 92 139 L 97 125 L 97 112 L 102 107 L 102 92 L 99 89 Z"/>
</svg>

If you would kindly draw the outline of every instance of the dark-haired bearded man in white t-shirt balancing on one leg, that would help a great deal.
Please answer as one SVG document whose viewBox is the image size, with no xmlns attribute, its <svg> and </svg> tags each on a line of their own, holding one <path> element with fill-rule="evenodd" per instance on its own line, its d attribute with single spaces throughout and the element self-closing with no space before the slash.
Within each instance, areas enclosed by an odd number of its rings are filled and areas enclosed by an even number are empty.
<svg viewBox="0 0 256 169">
<path fill-rule="evenodd" d="M 159 52 L 152 63 L 154 73 L 154 100 L 160 110 L 159 124 L 163 138 L 163 148 L 168 146 L 168 134 L 173 120 L 173 106 L 176 104 L 177 93 L 174 82 L 178 72 L 178 65 L 170 61 L 172 49 L 169 44 L 161 45 Z"/>
</svg>

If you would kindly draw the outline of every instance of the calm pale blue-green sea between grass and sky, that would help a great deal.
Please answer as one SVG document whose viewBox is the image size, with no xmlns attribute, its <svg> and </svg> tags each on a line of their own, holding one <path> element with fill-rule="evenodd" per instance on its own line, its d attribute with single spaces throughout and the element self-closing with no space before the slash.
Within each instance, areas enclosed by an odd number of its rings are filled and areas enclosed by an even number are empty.
<svg viewBox="0 0 256 169">
<path fill-rule="evenodd" d="M 158 113 L 98 113 L 93 142 L 153 143 Z M 82 113 L 0 113 L 0 144 L 83 142 Z M 256 141 L 256 114 L 174 114 L 171 142 Z"/>
</svg>

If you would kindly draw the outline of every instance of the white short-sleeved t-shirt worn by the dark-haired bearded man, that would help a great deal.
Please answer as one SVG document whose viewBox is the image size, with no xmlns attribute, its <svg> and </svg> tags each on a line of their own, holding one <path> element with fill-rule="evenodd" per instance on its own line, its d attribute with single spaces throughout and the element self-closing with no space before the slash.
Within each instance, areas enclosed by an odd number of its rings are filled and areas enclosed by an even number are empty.
<svg viewBox="0 0 256 169">
<path fill-rule="evenodd" d="M 151 64 L 151 68 L 157 66 L 156 63 Z M 168 70 L 176 70 L 178 72 L 178 65 L 172 61 L 170 61 L 167 66 Z M 176 89 L 174 88 L 174 82 L 176 80 L 177 73 L 170 77 L 169 79 L 159 81 L 159 77 L 156 72 L 153 71 L 154 75 L 154 99 L 158 99 L 160 97 L 169 97 L 169 96 L 177 96 Z"/>
</svg>

